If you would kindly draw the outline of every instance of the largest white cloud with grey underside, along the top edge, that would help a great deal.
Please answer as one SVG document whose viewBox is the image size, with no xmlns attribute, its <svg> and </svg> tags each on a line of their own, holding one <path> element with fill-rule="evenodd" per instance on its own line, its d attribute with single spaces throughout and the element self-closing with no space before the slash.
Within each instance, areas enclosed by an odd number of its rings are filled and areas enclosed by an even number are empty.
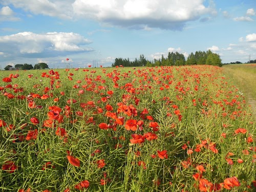
<svg viewBox="0 0 256 192">
<path fill-rule="evenodd" d="M 190 20 L 216 16 L 214 1 L 206 7 L 203 0 L 5 0 L 33 14 L 65 19 L 94 19 L 98 22 L 132 29 L 161 28 L 182 30 Z"/>
</svg>

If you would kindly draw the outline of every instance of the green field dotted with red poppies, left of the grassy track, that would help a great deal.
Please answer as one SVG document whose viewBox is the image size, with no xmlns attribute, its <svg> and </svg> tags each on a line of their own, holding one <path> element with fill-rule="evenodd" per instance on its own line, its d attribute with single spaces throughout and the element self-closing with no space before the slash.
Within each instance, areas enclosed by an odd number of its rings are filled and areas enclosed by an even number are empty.
<svg viewBox="0 0 256 192">
<path fill-rule="evenodd" d="M 2 191 L 255 191 L 255 119 L 216 66 L 0 73 Z"/>
</svg>

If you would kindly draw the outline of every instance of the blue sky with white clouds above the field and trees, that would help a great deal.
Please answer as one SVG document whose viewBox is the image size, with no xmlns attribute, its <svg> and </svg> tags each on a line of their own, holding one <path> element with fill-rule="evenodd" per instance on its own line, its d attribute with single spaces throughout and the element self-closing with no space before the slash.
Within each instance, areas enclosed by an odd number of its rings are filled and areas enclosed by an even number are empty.
<svg viewBox="0 0 256 192">
<path fill-rule="evenodd" d="M 109 67 L 209 49 L 223 63 L 256 59 L 255 0 L 0 0 L 2 70 Z"/>
</svg>

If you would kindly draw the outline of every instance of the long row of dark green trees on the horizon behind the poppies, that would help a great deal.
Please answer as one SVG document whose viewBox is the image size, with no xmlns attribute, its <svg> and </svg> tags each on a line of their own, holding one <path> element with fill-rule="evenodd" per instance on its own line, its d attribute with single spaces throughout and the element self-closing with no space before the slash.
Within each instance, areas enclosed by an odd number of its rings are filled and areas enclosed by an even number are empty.
<svg viewBox="0 0 256 192">
<path fill-rule="evenodd" d="M 115 62 L 112 63 L 112 67 L 123 66 L 123 67 L 139 67 L 139 66 L 184 66 L 184 65 L 212 65 L 212 66 L 222 66 L 220 55 L 217 53 L 212 53 L 211 50 L 208 51 L 196 51 L 195 53 L 190 53 L 185 59 L 184 55 L 178 52 L 168 52 L 166 58 L 162 55 L 161 59 L 154 59 L 153 61 L 147 60 L 144 55 L 140 55 L 140 58 L 135 58 L 134 61 L 123 58 L 116 58 Z"/>
</svg>

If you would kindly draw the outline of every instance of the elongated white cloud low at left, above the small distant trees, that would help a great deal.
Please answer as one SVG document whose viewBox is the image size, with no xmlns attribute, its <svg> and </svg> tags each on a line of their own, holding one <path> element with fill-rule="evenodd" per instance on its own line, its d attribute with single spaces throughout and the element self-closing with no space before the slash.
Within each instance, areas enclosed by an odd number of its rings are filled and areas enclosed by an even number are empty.
<svg viewBox="0 0 256 192">
<path fill-rule="evenodd" d="M 91 41 L 76 33 L 32 33 L 22 32 L 0 36 L 2 50 L 16 55 L 53 54 L 54 52 L 86 52 L 91 49 L 84 47 Z M 40 56 L 40 57 L 45 57 Z"/>
</svg>

